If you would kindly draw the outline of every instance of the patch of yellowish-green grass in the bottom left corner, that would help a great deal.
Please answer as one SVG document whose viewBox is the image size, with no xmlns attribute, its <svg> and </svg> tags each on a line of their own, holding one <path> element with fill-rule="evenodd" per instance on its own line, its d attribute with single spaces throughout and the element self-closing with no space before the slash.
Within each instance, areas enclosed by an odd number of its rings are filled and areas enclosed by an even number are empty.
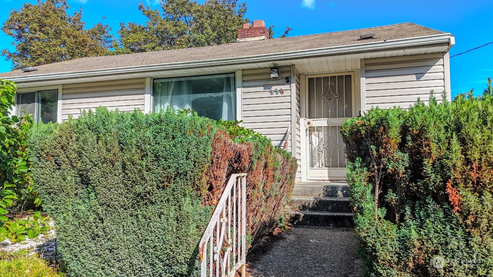
<svg viewBox="0 0 493 277">
<path fill-rule="evenodd" d="M 0 253 L 1 277 L 65 277 L 49 267 L 48 262 L 28 251 Z"/>
</svg>

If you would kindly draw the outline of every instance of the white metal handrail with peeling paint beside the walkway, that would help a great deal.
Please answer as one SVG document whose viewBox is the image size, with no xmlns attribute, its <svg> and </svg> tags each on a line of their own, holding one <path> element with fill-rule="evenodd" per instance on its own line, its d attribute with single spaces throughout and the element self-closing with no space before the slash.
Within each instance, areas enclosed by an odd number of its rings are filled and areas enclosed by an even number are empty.
<svg viewBox="0 0 493 277">
<path fill-rule="evenodd" d="M 234 277 L 246 258 L 246 173 L 232 174 L 199 243 L 201 277 Z"/>
</svg>

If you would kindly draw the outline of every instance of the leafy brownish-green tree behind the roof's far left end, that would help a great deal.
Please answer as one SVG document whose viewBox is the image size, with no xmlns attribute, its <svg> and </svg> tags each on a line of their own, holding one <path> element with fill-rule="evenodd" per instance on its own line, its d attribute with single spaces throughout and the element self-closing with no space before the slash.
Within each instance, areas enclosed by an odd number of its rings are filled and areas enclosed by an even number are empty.
<svg viewBox="0 0 493 277">
<path fill-rule="evenodd" d="M 37 0 L 10 12 L 3 32 L 13 37 L 15 51 L 2 50 L 13 69 L 108 54 L 113 36 L 107 25 L 85 29 L 82 9 L 67 14 L 66 0 Z"/>
</svg>

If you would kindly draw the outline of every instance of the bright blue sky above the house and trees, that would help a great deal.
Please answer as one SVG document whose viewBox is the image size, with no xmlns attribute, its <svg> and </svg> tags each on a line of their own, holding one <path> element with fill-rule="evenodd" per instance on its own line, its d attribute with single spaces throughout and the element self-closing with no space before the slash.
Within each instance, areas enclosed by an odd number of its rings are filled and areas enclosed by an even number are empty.
<svg viewBox="0 0 493 277">
<path fill-rule="evenodd" d="M 158 8 L 159 0 L 142 0 Z M 201 0 L 199 0 L 201 1 Z M 0 0 L 0 21 L 4 22 L 9 11 L 19 8 L 23 2 L 35 0 Z M 91 26 L 102 20 L 113 28 L 120 22 L 144 22 L 137 6 L 140 0 L 68 0 L 70 11 L 84 10 L 83 20 Z M 426 27 L 452 33 L 456 45 L 451 55 L 493 41 L 493 5 L 491 0 L 246 0 L 251 19 L 263 19 L 266 25 L 274 25 L 276 35 L 282 35 L 286 26 L 293 28 L 289 34 L 309 35 L 333 31 L 414 22 Z M 0 48 L 13 49 L 10 37 L 0 32 Z M 493 76 L 493 44 L 451 59 L 452 95 L 475 88 L 482 92 L 486 78 Z M 10 70 L 10 62 L 0 58 L 0 72 Z"/>
</svg>

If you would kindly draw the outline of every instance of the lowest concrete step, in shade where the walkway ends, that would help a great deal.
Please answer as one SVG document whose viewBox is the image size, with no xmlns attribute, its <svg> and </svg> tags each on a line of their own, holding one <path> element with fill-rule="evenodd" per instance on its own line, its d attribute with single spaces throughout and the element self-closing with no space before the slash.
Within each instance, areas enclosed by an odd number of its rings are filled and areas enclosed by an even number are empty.
<svg viewBox="0 0 493 277">
<path fill-rule="evenodd" d="M 353 227 L 351 212 L 288 210 L 286 219 L 292 225 Z"/>
</svg>

